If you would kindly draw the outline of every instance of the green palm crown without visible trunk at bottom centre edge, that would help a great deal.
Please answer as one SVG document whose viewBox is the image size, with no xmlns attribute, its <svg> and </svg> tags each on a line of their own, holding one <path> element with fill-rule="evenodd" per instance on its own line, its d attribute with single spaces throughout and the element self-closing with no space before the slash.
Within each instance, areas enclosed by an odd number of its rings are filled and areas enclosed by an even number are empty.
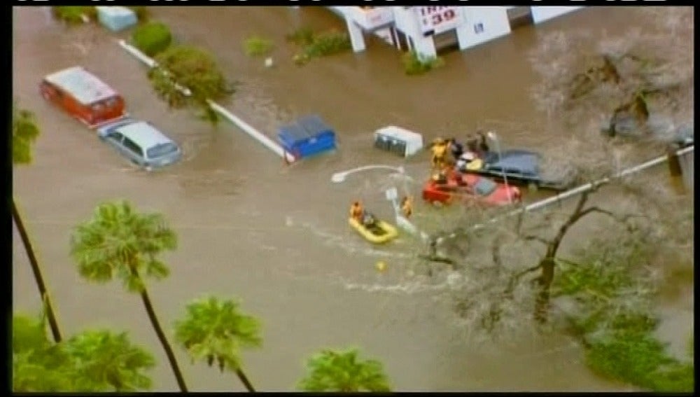
<svg viewBox="0 0 700 397">
<path fill-rule="evenodd" d="M 376 360 L 358 360 L 357 349 L 323 350 L 311 356 L 303 391 L 389 391 L 384 367 Z"/>
</svg>

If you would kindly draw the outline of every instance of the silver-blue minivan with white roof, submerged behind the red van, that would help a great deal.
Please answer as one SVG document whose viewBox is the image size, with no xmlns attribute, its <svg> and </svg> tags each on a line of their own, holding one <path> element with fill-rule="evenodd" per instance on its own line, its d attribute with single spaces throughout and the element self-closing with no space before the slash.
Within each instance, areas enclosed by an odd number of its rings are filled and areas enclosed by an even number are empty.
<svg viewBox="0 0 700 397">
<path fill-rule="evenodd" d="M 98 128 L 97 134 L 135 165 L 148 171 L 182 158 L 180 147 L 147 121 L 125 118 Z"/>
</svg>

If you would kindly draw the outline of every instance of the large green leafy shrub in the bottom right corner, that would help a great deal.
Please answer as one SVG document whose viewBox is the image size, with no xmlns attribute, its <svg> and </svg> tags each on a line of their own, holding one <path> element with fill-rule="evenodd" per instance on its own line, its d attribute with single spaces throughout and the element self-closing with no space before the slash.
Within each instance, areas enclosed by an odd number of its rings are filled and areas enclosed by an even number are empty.
<svg viewBox="0 0 700 397">
<path fill-rule="evenodd" d="M 552 293 L 577 300 L 571 325 L 584 340 L 586 364 L 598 375 L 649 391 L 692 391 L 692 361 L 671 356 L 654 336 L 659 319 L 649 307 L 656 289 L 640 270 L 653 249 L 638 235 L 591 240 L 576 262 L 558 261 Z"/>
</svg>

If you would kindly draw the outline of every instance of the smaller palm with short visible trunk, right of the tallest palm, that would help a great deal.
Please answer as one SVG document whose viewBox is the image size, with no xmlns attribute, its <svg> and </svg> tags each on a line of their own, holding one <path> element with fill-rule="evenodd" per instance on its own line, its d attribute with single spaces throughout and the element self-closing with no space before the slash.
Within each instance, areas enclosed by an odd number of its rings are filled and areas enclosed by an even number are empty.
<svg viewBox="0 0 700 397">
<path fill-rule="evenodd" d="M 221 372 L 232 370 L 248 391 L 255 391 L 241 368 L 240 349 L 260 347 L 260 322 L 242 314 L 238 302 L 213 296 L 190 302 L 184 319 L 175 323 L 175 339 L 193 361 L 206 360 L 211 367 L 216 359 Z"/>
</svg>

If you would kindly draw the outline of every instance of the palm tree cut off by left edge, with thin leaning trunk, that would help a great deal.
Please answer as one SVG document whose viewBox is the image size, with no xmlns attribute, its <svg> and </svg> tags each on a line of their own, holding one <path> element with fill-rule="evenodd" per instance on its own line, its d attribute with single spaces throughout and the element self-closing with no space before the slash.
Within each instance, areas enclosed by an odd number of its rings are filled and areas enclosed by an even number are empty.
<svg viewBox="0 0 700 397">
<path fill-rule="evenodd" d="M 27 111 L 26 109 L 20 109 L 16 103 L 13 104 L 12 162 L 14 165 L 25 165 L 31 163 L 31 145 L 34 144 L 34 141 L 36 141 L 38 138 L 39 133 L 39 127 L 36 124 L 34 113 L 31 113 L 31 111 Z M 14 198 L 12 200 L 12 218 L 15 221 L 15 225 L 17 225 L 17 230 L 20 233 L 22 244 L 25 246 L 27 258 L 29 258 L 29 265 L 31 266 L 31 272 L 34 274 L 34 281 L 36 281 L 39 295 L 41 295 L 41 301 L 44 304 L 45 312 L 48 316 L 48 323 L 51 328 L 53 339 L 55 342 L 60 342 L 62 340 L 61 331 L 58 327 L 56 314 L 51 305 L 48 289 L 46 288 L 43 274 L 41 273 L 41 267 L 39 267 L 38 260 L 36 260 L 34 247 L 31 245 L 29 233 L 25 228 L 25 223 L 22 221 L 20 210 L 18 209 Z"/>
</svg>

